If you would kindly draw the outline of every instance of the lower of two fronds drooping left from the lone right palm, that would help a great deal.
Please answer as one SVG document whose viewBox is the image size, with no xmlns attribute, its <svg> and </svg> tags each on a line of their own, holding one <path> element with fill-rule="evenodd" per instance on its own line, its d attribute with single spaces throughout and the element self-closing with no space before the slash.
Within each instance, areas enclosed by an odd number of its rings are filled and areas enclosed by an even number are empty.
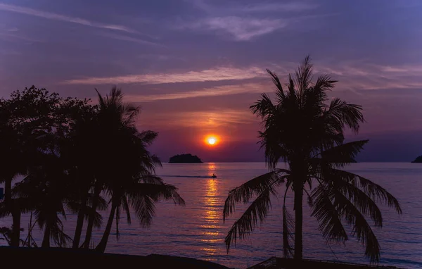
<svg viewBox="0 0 422 269">
<path fill-rule="evenodd" d="M 236 240 L 244 239 L 249 236 L 257 225 L 258 220 L 262 223 L 267 216 L 269 208 L 271 207 L 270 200 L 271 192 L 269 189 L 262 192 L 255 201 L 252 201 L 252 204 L 246 209 L 245 213 L 236 220 L 231 229 L 226 235 L 224 240 L 226 244 L 226 251 L 229 253 L 231 243 L 236 244 Z"/>
</svg>

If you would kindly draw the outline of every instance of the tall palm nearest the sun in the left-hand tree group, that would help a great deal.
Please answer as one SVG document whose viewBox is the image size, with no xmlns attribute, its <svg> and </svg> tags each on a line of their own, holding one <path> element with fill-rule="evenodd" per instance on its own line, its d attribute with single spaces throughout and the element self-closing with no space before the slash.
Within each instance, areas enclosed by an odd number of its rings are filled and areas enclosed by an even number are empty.
<svg viewBox="0 0 422 269">
<path fill-rule="evenodd" d="M 126 211 L 130 222 L 129 205 L 134 207 L 141 224 L 149 225 L 154 212 L 153 203 L 160 199 L 172 199 L 176 204 L 184 204 L 184 201 L 177 194 L 176 187 L 164 184 L 154 175 L 155 166 L 161 163 L 146 147 L 158 134 L 136 129 L 139 108 L 124 104 L 122 92 L 115 87 L 106 98 L 98 93 L 98 99 L 98 129 L 101 130 L 98 141 L 108 143 L 101 148 L 103 162 L 96 173 L 96 187 L 110 195 L 111 210 L 96 249 L 105 251 L 115 217 L 118 228 L 120 211 Z M 87 243 L 89 238 L 86 238 L 85 246 Z"/>
</svg>

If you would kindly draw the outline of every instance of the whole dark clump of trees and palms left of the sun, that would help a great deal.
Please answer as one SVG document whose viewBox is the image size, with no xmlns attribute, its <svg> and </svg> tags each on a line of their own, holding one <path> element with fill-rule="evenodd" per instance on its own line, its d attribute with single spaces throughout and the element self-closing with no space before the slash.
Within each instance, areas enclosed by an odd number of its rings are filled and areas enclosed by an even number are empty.
<svg viewBox="0 0 422 269">
<path fill-rule="evenodd" d="M 184 204 L 177 188 L 155 175 L 160 160 L 146 147 L 156 132 L 139 132 L 135 126 L 139 108 L 124 104 L 120 89 L 110 96 L 98 94 L 99 104 L 89 99 L 63 99 L 46 89 L 31 87 L 13 92 L 10 99 L 0 99 L 0 149 L 6 158 L 1 163 L 0 181 L 6 183 L 5 199 L 0 203 L 0 218 L 13 216 L 12 230 L 1 232 L 11 246 L 20 240 L 20 214 L 32 213 L 34 225 L 44 231 L 42 247 L 78 248 L 84 220 L 88 220 L 84 247 L 91 245 L 93 227 L 101 227 L 97 210 L 108 204 L 111 212 L 103 239 L 97 246 L 104 251 L 114 218 L 134 208 L 141 225 L 151 224 L 154 204 L 161 199 Z M 16 176 L 23 180 L 12 188 Z M 77 213 L 75 234 L 63 232 L 67 213 Z M 32 227 L 30 227 L 32 230 Z M 28 233 L 30 236 L 30 231 Z M 36 245 L 32 237 L 30 244 Z"/>
</svg>

